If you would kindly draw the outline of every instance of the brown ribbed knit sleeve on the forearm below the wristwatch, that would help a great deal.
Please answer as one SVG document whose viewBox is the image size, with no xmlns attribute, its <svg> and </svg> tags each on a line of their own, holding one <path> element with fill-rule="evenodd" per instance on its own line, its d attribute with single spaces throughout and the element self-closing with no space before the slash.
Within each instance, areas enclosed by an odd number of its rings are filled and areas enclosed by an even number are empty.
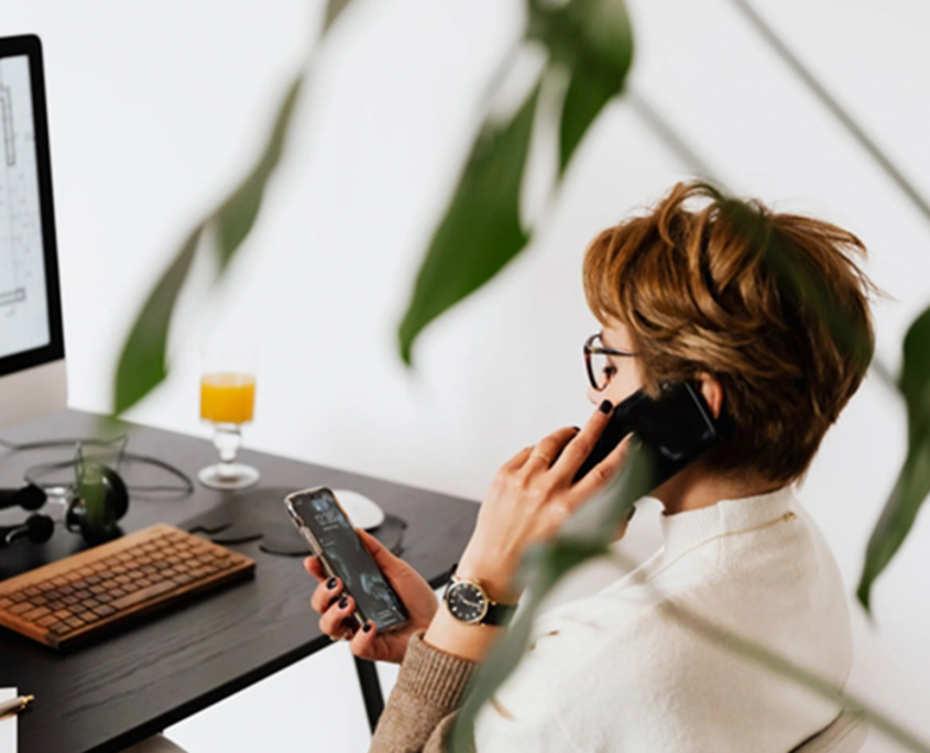
<svg viewBox="0 0 930 753">
<path fill-rule="evenodd" d="M 370 753 L 446 753 L 446 735 L 477 668 L 414 633 Z"/>
</svg>

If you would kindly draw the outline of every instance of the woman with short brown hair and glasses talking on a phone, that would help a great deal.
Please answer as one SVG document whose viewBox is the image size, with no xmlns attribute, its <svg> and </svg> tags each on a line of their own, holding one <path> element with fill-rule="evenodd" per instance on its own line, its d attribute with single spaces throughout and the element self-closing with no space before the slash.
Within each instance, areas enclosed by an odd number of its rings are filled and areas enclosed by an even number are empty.
<svg viewBox="0 0 930 753">
<path fill-rule="evenodd" d="M 800 282 L 770 262 L 776 252 Z M 862 243 L 840 228 L 700 184 L 677 185 L 593 241 L 584 290 L 603 328 L 586 352 L 604 358 L 590 374 L 599 407 L 582 429 L 559 429 L 504 463 L 456 575 L 479 581 L 492 601 L 516 602 L 526 547 L 550 537 L 623 465 L 626 443 L 572 483 L 612 407 L 639 388 L 655 394 L 661 382 L 688 380 L 730 430 L 655 490 L 661 550 L 595 596 L 537 618 L 529 651 L 477 719 L 479 753 L 786 753 L 836 716 L 667 607 L 845 683 L 843 583 L 791 485 L 871 358 L 869 283 L 853 253 L 864 253 Z M 819 301 L 840 309 L 842 331 Z M 460 621 L 455 603 L 437 603 L 423 578 L 362 535 L 412 618 L 398 634 L 379 636 L 368 624 L 351 635 L 357 656 L 402 663 L 372 751 L 444 751 L 466 685 L 504 628 Z M 351 597 L 338 579 L 324 582 L 314 559 L 306 567 L 320 579 L 320 628 L 343 637 Z"/>
</svg>

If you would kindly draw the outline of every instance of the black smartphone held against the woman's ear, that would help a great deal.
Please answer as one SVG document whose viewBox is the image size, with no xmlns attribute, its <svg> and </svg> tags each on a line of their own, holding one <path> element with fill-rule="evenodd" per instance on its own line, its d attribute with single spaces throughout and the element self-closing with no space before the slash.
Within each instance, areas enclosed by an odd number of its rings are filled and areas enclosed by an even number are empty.
<svg viewBox="0 0 930 753">
<path fill-rule="evenodd" d="M 614 407 L 575 481 L 608 457 L 627 434 L 635 434 L 649 450 L 655 489 L 720 443 L 722 427 L 689 382 L 664 383 L 655 400 L 638 390 Z"/>
</svg>

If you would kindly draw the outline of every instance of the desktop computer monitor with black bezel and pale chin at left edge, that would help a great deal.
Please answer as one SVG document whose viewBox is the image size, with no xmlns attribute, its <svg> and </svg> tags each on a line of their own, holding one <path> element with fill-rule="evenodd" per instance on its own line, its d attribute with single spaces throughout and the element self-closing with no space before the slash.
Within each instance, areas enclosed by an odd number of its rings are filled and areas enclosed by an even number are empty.
<svg viewBox="0 0 930 753">
<path fill-rule="evenodd" d="M 0 39 L 0 426 L 66 402 L 42 46 Z"/>
</svg>

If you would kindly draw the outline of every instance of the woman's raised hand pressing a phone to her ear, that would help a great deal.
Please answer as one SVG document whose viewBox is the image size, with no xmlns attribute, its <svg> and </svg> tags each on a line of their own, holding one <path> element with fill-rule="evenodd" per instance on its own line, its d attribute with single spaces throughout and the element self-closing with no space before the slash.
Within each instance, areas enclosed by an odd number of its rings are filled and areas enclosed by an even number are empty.
<svg viewBox="0 0 930 753">
<path fill-rule="evenodd" d="M 519 594 L 512 583 L 526 548 L 550 538 L 623 465 L 628 437 L 572 483 L 610 422 L 612 410 L 604 401 L 583 429 L 567 427 L 554 432 L 501 467 L 478 513 L 474 533 L 456 575 L 480 580 L 494 601 L 517 600 Z"/>
</svg>

